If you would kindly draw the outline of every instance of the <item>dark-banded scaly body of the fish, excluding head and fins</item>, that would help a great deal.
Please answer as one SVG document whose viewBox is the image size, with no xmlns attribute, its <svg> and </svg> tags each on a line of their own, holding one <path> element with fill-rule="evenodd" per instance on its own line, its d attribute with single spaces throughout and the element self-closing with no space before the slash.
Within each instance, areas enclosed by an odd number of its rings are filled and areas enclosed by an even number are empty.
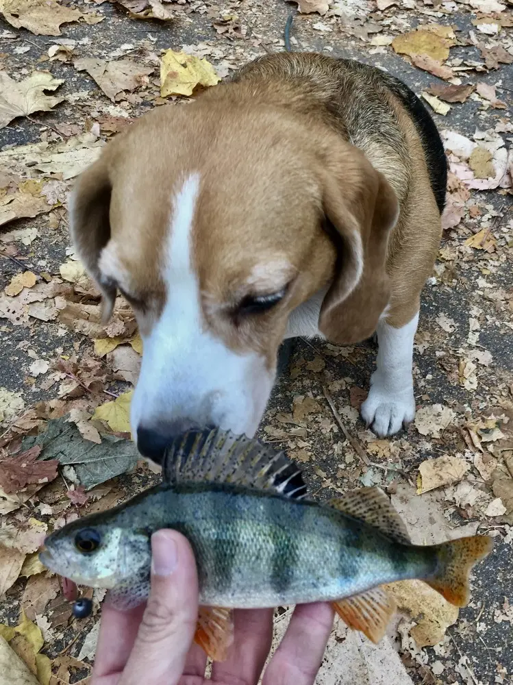
<svg viewBox="0 0 513 685">
<path fill-rule="evenodd" d="M 229 486 L 158 486 L 149 499 L 151 505 L 138 503 L 117 523 L 182 532 L 195 552 L 205 604 L 251 608 L 336 599 L 428 575 L 435 564 L 423 547 L 391 543 L 361 521 L 308 501 Z"/>
</svg>

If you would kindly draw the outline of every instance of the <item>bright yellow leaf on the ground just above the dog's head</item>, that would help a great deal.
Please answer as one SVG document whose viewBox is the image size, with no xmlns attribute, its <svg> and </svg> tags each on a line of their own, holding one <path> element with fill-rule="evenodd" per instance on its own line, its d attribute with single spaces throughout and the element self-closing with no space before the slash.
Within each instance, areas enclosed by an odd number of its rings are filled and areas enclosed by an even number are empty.
<svg viewBox="0 0 513 685">
<path fill-rule="evenodd" d="M 215 86 L 221 79 L 212 64 L 194 55 L 166 50 L 160 62 L 160 95 L 192 95 L 196 86 Z"/>
</svg>

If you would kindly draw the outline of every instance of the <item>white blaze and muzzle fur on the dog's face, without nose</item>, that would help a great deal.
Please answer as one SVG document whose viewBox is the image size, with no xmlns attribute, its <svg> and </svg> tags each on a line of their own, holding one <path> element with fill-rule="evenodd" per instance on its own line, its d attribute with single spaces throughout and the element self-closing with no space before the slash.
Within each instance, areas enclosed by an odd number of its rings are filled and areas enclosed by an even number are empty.
<svg viewBox="0 0 513 685">
<path fill-rule="evenodd" d="M 166 304 L 143 338 L 142 365 L 132 401 L 132 429 L 160 428 L 181 419 L 253 436 L 273 386 L 264 358 L 238 354 L 204 327 L 191 229 L 199 174 L 173 198 L 164 260 Z"/>
</svg>

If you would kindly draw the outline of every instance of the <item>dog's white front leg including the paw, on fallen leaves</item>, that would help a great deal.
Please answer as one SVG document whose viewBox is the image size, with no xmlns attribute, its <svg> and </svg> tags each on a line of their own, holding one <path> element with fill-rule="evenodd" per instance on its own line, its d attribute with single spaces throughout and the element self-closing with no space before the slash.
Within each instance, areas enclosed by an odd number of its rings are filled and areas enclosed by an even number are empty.
<svg viewBox="0 0 513 685">
<path fill-rule="evenodd" d="M 362 416 L 379 436 L 397 433 L 415 416 L 413 394 L 413 340 L 418 312 L 406 325 L 395 328 L 386 316 L 377 325 L 377 368 L 371 389 L 362 404 Z"/>
</svg>

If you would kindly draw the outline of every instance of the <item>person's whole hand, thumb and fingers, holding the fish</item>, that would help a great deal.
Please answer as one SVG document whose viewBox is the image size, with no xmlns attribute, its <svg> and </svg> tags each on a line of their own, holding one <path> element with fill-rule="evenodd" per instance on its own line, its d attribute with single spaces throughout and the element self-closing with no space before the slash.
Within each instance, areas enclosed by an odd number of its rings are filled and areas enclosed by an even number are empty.
<svg viewBox="0 0 513 685">
<path fill-rule="evenodd" d="M 102 608 L 91 685 L 256 685 L 271 649 L 273 610 L 234 612 L 235 637 L 224 662 L 204 678 L 206 656 L 192 644 L 198 612 L 195 558 L 184 536 L 151 537 L 151 592 L 146 606 Z M 333 625 L 329 604 L 295 608 L 262 685 L 313 685 Z"/>
</svg>

